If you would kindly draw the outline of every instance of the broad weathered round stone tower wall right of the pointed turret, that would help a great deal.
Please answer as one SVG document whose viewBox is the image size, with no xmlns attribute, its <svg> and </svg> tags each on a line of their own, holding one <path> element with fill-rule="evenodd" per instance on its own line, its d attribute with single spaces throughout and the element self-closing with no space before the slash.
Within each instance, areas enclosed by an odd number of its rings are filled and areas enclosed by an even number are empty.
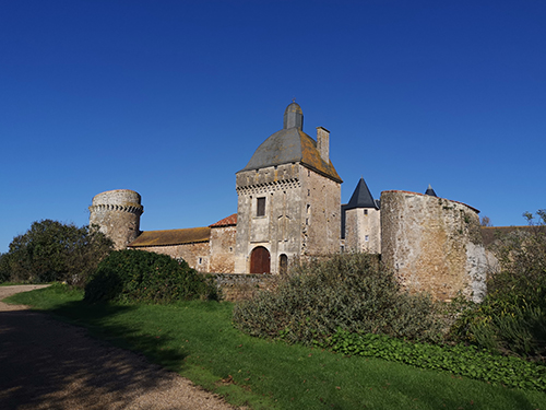
<svg viewBox="0 0 546 410">
<path fill-rule="evenodd" d="M 464 203 L 407 192 L 381 192 L 382 260 L 410 291 L 478 301 L 486 257 L 477 211 Z"/>
</svg>

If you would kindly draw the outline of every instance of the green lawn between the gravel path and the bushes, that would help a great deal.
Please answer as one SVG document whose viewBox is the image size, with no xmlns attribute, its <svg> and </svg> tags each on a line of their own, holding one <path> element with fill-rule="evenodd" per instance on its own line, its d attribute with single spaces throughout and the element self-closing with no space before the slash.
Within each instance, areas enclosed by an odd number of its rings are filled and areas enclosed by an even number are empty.
<svg viewBox="0 0 546 410">
<path fill-rule="evenodd" d="M 85 326 L 253 409 L 546 409 L 537 391 L 248 337 L 232 326 L 229 303 L 93 306 L 60 285 L 10 300 Z"/>
</svg>

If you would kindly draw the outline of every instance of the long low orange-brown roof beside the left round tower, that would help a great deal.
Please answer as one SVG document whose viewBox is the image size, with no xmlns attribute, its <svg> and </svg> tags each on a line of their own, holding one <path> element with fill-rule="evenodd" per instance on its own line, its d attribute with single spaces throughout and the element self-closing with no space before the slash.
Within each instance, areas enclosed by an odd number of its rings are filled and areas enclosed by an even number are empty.
<svg viewBox="0 0 546 410">
<path fill-rule="evenodd" d="M 127 245 L 130 248 L 144 246 L 167 246 L 209 242 L 211 229 L 209 226 L 188 227 L 183 230 L 145 231 Z"/>
</svg>

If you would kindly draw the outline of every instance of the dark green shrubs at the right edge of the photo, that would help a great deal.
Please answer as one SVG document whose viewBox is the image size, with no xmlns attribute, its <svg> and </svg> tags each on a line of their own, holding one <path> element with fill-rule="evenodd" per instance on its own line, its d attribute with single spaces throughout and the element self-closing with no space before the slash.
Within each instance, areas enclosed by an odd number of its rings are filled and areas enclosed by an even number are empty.
<svg viewBox="0 0 546 410">
<path fill-rule="evenodd" d="M 452 333 L 460 340 L 506 354 L 542 360 L 546 355 L 546 211 L 535 224 L 498 237 L 498 271 L 488 278 L 488 294 L 464 312 Z"/>
</svg>

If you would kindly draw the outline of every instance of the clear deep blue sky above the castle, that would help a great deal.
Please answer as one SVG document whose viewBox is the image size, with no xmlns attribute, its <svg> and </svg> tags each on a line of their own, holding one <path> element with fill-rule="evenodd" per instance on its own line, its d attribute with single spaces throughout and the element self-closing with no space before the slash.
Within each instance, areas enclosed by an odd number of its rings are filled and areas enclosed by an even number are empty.
<svg viewBox="0 0 546 410">
<path fill-rule="evenodd" d="M 283 126 L 331 131 L 347 202 L 546 208 L 546 1 L 17 0 L 0 10 L 0 251 L 32 222 L 88 223 L 105 190 L 141 229 L 237 211 L 235 173 Z"/>
</svg>

